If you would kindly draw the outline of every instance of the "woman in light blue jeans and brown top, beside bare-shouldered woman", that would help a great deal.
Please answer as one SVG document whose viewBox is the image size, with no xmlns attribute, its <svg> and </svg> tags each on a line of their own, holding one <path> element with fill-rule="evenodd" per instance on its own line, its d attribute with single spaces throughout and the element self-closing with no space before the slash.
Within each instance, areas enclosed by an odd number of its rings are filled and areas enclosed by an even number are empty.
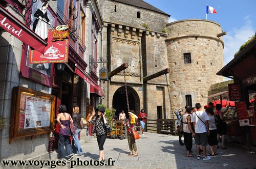
<svg viewBox="0 0 256 169">
<path fill-rule="evenodd" d="M 75 155 L 82 155 L 82 148 L 81 148 L 81 145 L 80 145 L 79 139 L 78 139 L 78 135 L 80 134 L 80 132 L 82 130 L 81 125 L 80 125 L 81 117 L 82 117 L 81 114 L 79 114 L 79 107 L 74 106 L 72 118 L 74 120 L 74 126 L 76 129 L 76 133 L 72 135 L 73 136 L 72 150 Z"/>
</svg>

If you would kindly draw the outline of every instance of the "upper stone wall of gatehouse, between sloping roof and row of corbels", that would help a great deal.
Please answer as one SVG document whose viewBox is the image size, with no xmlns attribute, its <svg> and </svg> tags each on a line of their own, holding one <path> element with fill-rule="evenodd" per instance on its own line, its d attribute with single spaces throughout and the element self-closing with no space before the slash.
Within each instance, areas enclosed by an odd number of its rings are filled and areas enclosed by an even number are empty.
<svg viewBox="0 0 256 169">
<path fill-rule="evenodd" d="M 115 12 L 116 5 L 116 12 Z M 168 23 L 168 15 L 164 15 L 155 11 L 118 3 L 115 1 L 104 1 L 104 21 L 111 23 L 119 23 L 144 29 L 141 24 L 146 23 L 152 31 L 161 32 L 163 26 Z M 137 18 L 137 12 L 141 17 Z"/>
</svg>

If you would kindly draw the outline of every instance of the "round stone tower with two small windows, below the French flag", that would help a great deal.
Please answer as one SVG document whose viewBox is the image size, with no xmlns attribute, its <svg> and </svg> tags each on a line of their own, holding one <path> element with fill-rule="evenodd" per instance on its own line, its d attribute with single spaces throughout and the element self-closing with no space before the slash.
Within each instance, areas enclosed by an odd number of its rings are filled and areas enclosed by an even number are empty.
<svg viewBox="0 0 256 169">
<path fill-rule="evenodd" d="M 173 110 L 207 104 L 210 85 L 225 81 L 216 73 L 224 66 L 221 25 L 204 19 L 185 19 L 166 25 L 169 83 Z"/>
</svg>

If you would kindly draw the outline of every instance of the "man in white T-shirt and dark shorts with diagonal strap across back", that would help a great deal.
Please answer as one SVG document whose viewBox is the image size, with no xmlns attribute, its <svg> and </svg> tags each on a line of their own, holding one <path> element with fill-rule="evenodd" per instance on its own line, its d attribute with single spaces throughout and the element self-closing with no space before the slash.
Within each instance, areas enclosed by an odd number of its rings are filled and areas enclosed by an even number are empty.
<svg viewBox="0 0 256 169">
<path fill-rule="evenodd" d="M 195 142 L 197 148 L 197 159 L 200 160 L 201 155 L 199 154 L 199 146 L 202 145 L 203 149 L 203 160 L 210 160 L 211 158 L 206 155 L 206 146 L 208 144 L 207 134 L 209 131 L 209 117 L 207 113 L 202 110 L 200 103 L 196 103 L 197 111 L 191 115 L 191 122 L 193 122 L 195 128 Z"/>
</svg>

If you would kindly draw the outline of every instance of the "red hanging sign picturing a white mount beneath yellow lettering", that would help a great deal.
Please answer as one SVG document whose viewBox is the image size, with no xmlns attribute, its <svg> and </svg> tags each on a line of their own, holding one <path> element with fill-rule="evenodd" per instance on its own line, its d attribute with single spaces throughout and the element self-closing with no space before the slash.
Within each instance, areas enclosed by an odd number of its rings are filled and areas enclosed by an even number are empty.
<svg viewBox="0 0 256 169">
<path fill-rule="evenodd" d="M 56 29 L 48 30 L 48 45 L 44 54 L 30 49 L 29 64 L 65 63 L 69 55 L 68 26 L 59 25 Z"/>
</svg>

